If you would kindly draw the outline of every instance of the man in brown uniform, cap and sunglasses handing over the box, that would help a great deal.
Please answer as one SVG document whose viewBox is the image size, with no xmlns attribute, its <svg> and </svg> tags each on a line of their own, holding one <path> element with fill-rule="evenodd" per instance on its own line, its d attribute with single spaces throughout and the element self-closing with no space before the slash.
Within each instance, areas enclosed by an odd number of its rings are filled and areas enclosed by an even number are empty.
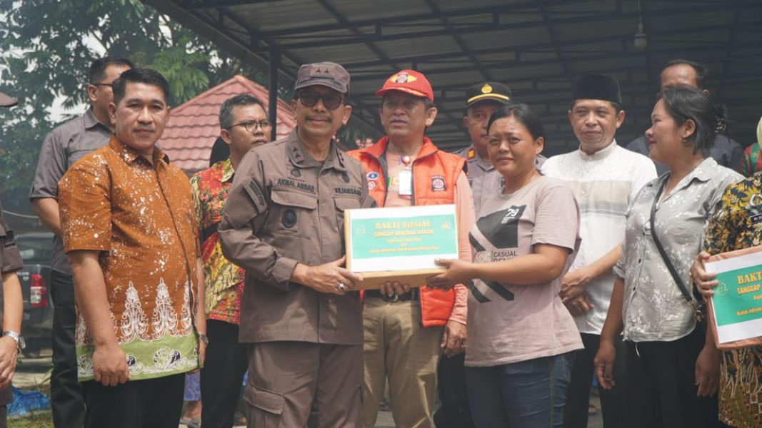
<svg viewBox="0 0 762 428">
<path fill-rule="evenodd" d="M 296 129 L 241 161 L 219 227 L 245 269 L 248 426 L 360 426 L 363 318 L 344 264 L 344 209 L 373 206 L 363 168 L 333 140 L 349 120 L 349 74 L 303 65 Z"/>
</svg>

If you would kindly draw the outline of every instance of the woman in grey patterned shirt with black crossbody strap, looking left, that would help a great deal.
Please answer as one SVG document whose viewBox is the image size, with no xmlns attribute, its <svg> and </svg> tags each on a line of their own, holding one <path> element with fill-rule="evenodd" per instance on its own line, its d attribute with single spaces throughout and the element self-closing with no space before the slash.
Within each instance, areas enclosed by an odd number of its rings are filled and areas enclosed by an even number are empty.
<svg viewBox="0 0 762 428">
<path fill-rule="evenodd" d="M 630 203 L 622 258 L 595 358 L 598 382 L 611 388 L 611 369 L 624 358 L 632 426 L 719 426 L 719 351 L 706 340 L 690 265 L 706 220 L 728 184 L 741 175 L 707 157 L 716 110 L 695 88 L 661 92 L 645 132 L 651 158 L 670 171 L 646 184 Z M 625 355 L 613 340 L 624 334 Z"/>
</svg>

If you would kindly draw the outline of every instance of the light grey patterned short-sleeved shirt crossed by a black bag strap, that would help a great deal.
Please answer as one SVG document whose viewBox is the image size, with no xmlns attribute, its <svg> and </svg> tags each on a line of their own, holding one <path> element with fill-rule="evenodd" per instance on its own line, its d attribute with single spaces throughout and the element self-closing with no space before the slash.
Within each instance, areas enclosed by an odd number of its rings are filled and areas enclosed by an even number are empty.
<svg viewBox="0 0 762 428">
<path fill-rule="evenodd" d="M 633 342 L 677 340 L 696 328 L 693 310 L 651 232 L 651 208 L 669 177 L 664 174 L 646 184 L 630 204 L 622 257 L 613 269 L 624 279 L 624 338 Z M 684 284 L 690 284 L 690 265 L 700 251 L 706 220 L 728 184 L 741 178 L 706 158 L 658 202 L 656 235 Z"/>
</svg>

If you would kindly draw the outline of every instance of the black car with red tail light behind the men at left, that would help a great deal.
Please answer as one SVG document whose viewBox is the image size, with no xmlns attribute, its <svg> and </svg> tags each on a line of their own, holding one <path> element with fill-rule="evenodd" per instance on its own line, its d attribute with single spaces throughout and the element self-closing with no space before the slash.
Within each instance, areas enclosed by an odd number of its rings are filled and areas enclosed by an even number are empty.
<svg viewBox="0 0 762 428">
<path fill-rule="evenodd" d="M 16 244 L 24 260 L 18 272 L 24 298 L 21 334 L 27 341 L 24 356 L 35 358 L 50 348 L 53 337 L 53 300 L 50 299 L 50 261 L 53 259 L 53 233 L 22 233 Z"/>
</svg>

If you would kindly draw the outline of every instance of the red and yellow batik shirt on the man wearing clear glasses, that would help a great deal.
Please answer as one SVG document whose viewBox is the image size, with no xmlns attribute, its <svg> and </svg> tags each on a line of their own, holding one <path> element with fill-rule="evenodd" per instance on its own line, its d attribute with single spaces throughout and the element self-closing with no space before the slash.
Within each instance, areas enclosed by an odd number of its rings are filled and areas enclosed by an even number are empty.
<svg viewBox="0 0 762 428">
<path fill-rule="evenodd" d="M 217 232 L 217 226 L 223 220 L 223 209 L 232 185 L 233 172 L 229 158 L 217 162 L 191 177 L 191 189 L 199 236 L 202 239 L 203 277 L 207 285 L 204 309 L 207 318 L 238 324 L 244 273 L 223 255 Z"/>
</svg>

